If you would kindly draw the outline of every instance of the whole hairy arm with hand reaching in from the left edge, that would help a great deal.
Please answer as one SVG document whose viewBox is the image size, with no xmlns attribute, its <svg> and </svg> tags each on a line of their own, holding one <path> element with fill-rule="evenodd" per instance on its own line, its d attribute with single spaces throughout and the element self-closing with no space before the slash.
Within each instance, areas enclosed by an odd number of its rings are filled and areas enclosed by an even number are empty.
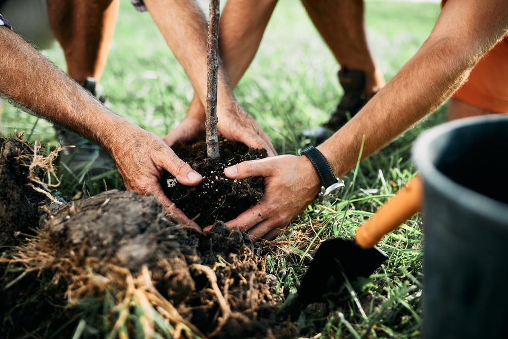
<svg viewBox="0 0 508 339">
<path fill-rule="evenodd" d="M 0 93 L 107 149 L 123 177 L 125 188 L 141 195 L 153 193 L 173 219 L 201 232 L 199 226 L 165 196 L 159 180 L 163 169 L 189 186 L 201 182 L 202 177 L 180 160 L 161 138 L 109 111 L 5 27 L 0 27 L 0 70 Z"/>
</svg>

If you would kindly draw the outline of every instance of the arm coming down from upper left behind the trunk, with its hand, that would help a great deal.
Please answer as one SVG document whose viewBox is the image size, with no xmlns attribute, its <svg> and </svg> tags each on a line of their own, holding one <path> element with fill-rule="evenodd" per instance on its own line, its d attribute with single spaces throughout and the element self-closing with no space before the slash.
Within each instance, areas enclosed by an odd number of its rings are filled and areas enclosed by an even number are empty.
<svg viewBox="0 0 508 339">
<path fill-rule="evenodd" d="M 207 22 L 199 4 L 196 0 L 145 0 L 145 5 L 204 107 L 207 83 Z M 236 102 L 220 65 L 217 117 L 217 130 L 226 138 L 243 142 L 250 147 L 265 148 L 269 153 L 275 152 L 270 139 L 258 123 Z"/>
</svg>

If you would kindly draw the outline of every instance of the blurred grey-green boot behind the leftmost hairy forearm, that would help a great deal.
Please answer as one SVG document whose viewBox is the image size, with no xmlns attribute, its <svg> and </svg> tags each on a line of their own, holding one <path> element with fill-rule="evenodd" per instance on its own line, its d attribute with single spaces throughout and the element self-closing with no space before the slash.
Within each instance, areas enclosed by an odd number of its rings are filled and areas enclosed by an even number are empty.
<svg viewBox="0 0 508 339">
<path fill-rule="evenodd" d="M 87 78 L 83 87 L 94 97 L 102 97 L 102 90 L 96 86 L 96 79 Z M 104 103 L 103 100 L 101 102 Z M 81 177 L 84 174 L 97 176 L 116 168 L 113 159 L 107 151 L 81 137 L 80 135 L 67 130 L 55 127 L 56 137 L 60 145 L 68 147 L 59 152 L 58 164 L 64 172 L 72 172 L 75 176 Z"/>
</svg>

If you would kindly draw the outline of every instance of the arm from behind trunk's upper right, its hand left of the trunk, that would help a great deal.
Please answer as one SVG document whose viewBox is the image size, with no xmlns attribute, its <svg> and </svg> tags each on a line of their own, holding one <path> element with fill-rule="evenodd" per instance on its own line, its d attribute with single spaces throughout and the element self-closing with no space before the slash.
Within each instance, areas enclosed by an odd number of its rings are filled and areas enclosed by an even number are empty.
<svg viewBox="0 0 508 339">
<path fill-rule="evenodd" d="M 249 67 L 263 38 L 277 0 L 228 0 L 219 21 L 219 51 L 222 67 L 233 89 Z M 164 137 L 173 145 L 177 140 L 193 140 L 205 131 L 205 107 L 197 94 L 190 101 L 181 123 Z"/>
</svg>

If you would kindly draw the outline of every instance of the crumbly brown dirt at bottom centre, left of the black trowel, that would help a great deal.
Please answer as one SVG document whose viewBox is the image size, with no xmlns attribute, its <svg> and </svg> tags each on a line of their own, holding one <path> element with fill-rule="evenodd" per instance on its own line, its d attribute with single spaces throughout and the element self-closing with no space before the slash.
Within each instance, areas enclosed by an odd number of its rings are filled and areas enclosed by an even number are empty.
<svg viewBox="0 0 508 339">
<path fill-rule="evenodd" d="M 204 263 L 216 267 L 217 283 L 231 308 L 228 323 L 218 333 L 218 338 L 265 338 L 269 333 L 276 337 L 293 338 L 296 327 L 288 324 L 284 329 L 292 333 L 288 336 L 280 330 L 280 321 L 276 321 L 278 297 L 275 296 L 276 281 L 273 275 L 265 273 L 262 260 L 253 256 L 250 238 L 241 233 L 237 227 L 227 228 L 223 222 L 216 222 L 210 238 L 200 241 L 198 251 Z M 210 333 L 215 324 L 214 317 L 218 312 L 218 305 L 206 303 L 213 300 L 214 293 L 206 289 L 204 275 L 196 270 L 192 271 L 196 283 L 196 291 L 189 295 L 186 301 L 186 314 L 193 324 Z M 196 307 L 200 305 L 200 307 Z"/>
</svg>

